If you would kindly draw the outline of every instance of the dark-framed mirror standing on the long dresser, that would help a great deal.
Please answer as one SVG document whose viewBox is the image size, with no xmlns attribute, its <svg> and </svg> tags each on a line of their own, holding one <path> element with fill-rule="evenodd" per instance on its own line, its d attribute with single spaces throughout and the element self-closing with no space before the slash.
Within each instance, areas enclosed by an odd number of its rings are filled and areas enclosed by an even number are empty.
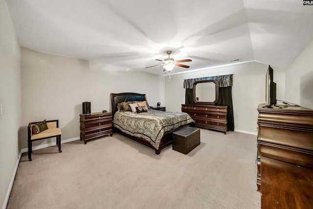
<svg viewBox="0 0 313 209">
<path fill-rule="evenodd" d="M 218 102 L 219 87 L 215 80 L 196 81 L 194 83 L 195 104 L 213 104 Z"/>
</svg>

